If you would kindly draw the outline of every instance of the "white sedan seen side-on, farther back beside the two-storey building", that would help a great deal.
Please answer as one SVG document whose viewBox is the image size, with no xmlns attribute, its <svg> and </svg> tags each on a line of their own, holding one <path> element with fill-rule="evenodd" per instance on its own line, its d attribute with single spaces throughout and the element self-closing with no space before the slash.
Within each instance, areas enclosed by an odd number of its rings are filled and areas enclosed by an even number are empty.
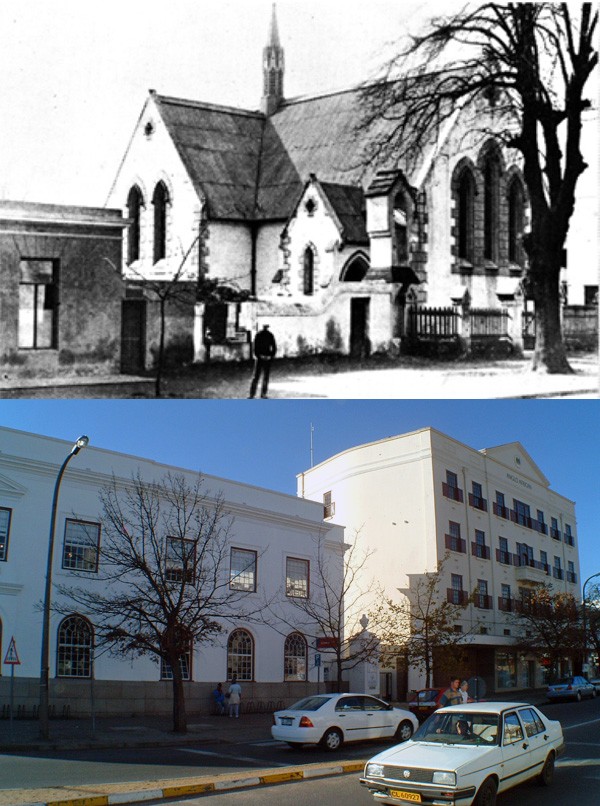
<svg viewBox="0 0 600 806">
<path fill-rule="evenodd" d="M 321 744 L 338 750 L 344 742 L 395 737 L 404 742 L 419 723 L 414 714 L 367 694 L 314 694 L 275 711 L 271 735 L 291 747 Z"/>
</svg>

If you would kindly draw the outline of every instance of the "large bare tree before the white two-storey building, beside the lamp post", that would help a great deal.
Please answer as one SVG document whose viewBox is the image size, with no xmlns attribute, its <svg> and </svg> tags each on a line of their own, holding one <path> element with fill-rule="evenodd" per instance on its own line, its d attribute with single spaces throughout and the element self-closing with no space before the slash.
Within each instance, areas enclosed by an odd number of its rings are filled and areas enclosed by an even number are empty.
<svg viewBox="0 0 600 806">
<path fill-rule="evenodd" d="M 166 665 L 173 728 L 185 733 L 184 668 L 193 648 L 214 642 L 228 622 L 253 620 L 263 605 L 251 610 L 244 593 L 230 589 L 232 521 L 201 476 L 192 484 L 170 474 L 149 482 L 138 471 L 127 485 L 113 477 L 100 498 L 98 581 L 59 592 L 90 619 L 99 644 Z"/>
</svg>

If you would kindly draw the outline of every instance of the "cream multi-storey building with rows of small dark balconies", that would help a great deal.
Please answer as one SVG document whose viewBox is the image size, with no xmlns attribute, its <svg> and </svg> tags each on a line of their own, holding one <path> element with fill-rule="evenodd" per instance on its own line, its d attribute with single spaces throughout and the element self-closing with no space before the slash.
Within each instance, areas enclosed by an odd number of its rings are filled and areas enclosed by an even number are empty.
<svg viewBox="0 0 600 806">
<path fill-rule="evenodd" d="M 440 595 L 462 603 L 476 594 L 456 625 L 469 633 L 466 667 L 435 669 L 437 685 L 450 673 L 481 677 L 488 692 L 543 683 L 534 656 L 514 646 L 510 614 L 537 583 L 579 598 L 575 505 L 520 443 L 474 450 L 424 428 L 321 462 L 298 476 L 298 495 L 321 501 L 348 540 L 374 552 L 368 572 L 391 597 L 445 556 Z M 392 694 L 422 682 L 399 669 Z"/>
</svg>

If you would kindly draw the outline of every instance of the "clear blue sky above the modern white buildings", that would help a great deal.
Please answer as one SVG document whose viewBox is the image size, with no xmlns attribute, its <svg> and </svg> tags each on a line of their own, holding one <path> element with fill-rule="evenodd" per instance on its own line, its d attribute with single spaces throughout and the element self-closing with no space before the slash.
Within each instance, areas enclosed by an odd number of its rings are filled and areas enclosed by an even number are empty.
<svg viewBox="0 0 600 806">
<path fill-rule="evenodd" d="M 583 582 L 600 572 L 600 409 L 594 400 L 3 400 L 0 425 L 296 494 L 340 451 L 431 426 L 475 448 L 521 442 L 576 502 Z M 2 450 L 0 436 L 0 451 Z"/>
</svg>

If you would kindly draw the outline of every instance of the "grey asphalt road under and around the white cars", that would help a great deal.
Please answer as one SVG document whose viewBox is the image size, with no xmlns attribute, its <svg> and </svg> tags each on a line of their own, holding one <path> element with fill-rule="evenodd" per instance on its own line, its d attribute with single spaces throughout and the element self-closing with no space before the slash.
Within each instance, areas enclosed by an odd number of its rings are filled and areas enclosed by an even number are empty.
<svg viewBox="0 0 600 806">
<path fill-rule="evenodd" d="M 499 803 L 518 803 L 523 806 L 550 803 L 577 803 L 578 806 L 596 806 L 600 784 L 600 698 L 581 703 L 552 703 L 542 706 L 542 710 L 563 725 L 567 753 L 558 765 L 559 774 L 551 790 L 544 793 L 537 787 L 525 785 L 516 795 L 507 794 L 499 798 Z M 245 743 L 240 736 L 236 744 L 202 744 L 197 747 L 131 748 L 116 750 L 87 750 L 63 753 L 7 753 L 0 755 L 0 791 L 43 786 L 65 786 L 95 783 L 120 783 L 157 780 L 175 777 L 195 777 L 215 773 L 239 773 L 242 771 L 292 765 L 312 764 L 335 759 L 366 760 L 387 747 L 388 742 L 360 743 L 346 745 L 340 753 L 327 753 L 320 748 L 308 747 L 292 750 L 268 736 L 262 741 Z M 236 791 L 236 804 L 292 802 L 300 797 L 296 792 L 302 787 L 303 806 L 311 803 L 369 803 L 370 796 L 356 784 L 357 776 L 336 777 L 337 783 L 329 779 L 302 781 L 277 787 L 260 787 L 259 790 Z M 354 781 L 355 786 L 352 786 Z M 321 791 L 321 800 L 310 800 L 310 793 L 316 785 Z M 345 793 L 336 800 L 335 792 Z M 272 795 L 271 793 L 279 793 Z M 332 799 L 329 800 L 330 793 Z M 559 797 L 560 795 L 560 797 Z M 231 798 L 223 795 L 204 795 L 200 799 L 204 806 L 214 802 L 223 806 Z M 278 797 L 279 800 L 266 798 Z M 284 799 L 282 800 L 282 798 Z M 243 798 L 243 799 L 242 799 Z M 245 800 L 250 798 L 249 800 Z M 366 798 L 366 800 L 365 800 Z M 175 801 L 174 801 L 175 802 Z M 182 801 L 183 802 L 183 801 Z M 186 801 L 188 803 L 195 801 Z"/>
</svg>

